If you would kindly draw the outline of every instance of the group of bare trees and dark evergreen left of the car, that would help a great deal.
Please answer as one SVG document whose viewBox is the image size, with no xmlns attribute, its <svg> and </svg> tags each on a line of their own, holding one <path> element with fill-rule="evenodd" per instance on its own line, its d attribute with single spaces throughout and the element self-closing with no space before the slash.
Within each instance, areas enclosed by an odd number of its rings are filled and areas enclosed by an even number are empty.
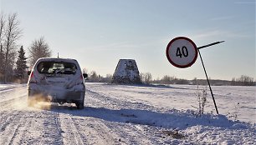
<svg viewBox="0 0 256 145">
<path fill-rule="evenodd" d="M 26 82 L 27 69 L 39 57 L 51 57 L 51 50 L 44 37 L 35 39 L 28 47 L 28 57 L 18 40 L 23 35 L 17 13 L 0 13 L 0 82 Z"/>
</svg>

